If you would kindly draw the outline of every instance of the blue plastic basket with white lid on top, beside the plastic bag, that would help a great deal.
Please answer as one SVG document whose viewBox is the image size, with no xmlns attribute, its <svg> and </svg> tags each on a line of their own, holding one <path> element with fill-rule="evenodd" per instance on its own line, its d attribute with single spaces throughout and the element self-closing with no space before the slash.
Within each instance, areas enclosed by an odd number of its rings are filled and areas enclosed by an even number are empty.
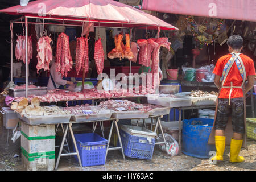
<svg viewBox="0 0 256 182">
<path fill-rule="evenodd" d="M 155 138 L 151 139 L 151 144 L 147 137 L 130 135 L 123 130 L 119 130 L 123 145 L 123 152 L 130 158 L 151 160 L 155 147 Z"/>
</svg>

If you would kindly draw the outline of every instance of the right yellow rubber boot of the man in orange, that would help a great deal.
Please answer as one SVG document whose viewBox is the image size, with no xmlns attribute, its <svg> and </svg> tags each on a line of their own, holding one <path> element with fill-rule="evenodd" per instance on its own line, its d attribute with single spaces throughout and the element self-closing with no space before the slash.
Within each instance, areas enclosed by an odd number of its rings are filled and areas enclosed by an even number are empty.
<svg viewBox="0 0 256 182">
<path fill-rule="evenodd" d="M 242 147 L 242 143 L 243 143 L 243 140 L 234 140 L 233 138 L 231 139 L 229 162 L 241 163 L 245 161 L 245 158 L 243 158 L 242 156 L 238 156 Z"/>
</svg>

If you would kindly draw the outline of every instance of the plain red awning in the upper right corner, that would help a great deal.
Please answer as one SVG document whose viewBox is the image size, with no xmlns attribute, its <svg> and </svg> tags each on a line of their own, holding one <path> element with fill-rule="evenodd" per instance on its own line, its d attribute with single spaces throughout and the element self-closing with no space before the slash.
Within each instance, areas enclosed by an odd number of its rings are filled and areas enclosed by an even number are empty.
<svg viewBox="0 0 256 182">
<path fill-rule="evenodd" d="M 256 22 L 256 0 L 143 0 L 142 9 Z"/>
</svg>

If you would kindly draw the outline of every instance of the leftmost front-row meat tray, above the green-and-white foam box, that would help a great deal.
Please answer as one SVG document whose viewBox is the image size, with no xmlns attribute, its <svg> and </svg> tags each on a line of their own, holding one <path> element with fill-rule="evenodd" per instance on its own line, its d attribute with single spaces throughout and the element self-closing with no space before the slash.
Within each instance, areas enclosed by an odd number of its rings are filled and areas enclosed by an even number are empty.
<svg viewBox="0 0 256 182">
<path fill-rule="evenodd" d="M 30 125 L 49 124 L 49 123 L 68 123 L 71 119 L 72 114 L 65 115 L 44 115 L 44 116 L 28 116 L 17 113 L 17 116 L 22 121 Z"/>
</svg>

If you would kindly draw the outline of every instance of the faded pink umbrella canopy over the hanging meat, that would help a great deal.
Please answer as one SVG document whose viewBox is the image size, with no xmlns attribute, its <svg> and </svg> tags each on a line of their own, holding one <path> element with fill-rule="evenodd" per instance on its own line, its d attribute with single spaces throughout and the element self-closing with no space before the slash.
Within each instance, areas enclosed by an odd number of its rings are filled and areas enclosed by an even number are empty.
<svg viewBox="0 0 256 182">
<path fill-rule="evenodd" d="M 169 23 L 144 11 L 112 0 L 38 0 L 27 6 L 13 6 L 0 10 L 11 15 L 26 15 L 43 18 L 68 18 L 79 20 L 98 20 L 107 23 L 101 26 L 141 27 L 148 29 L 179 30 Z M 43 16 L 42 16 L 43 15 Z"/>
</svg>

